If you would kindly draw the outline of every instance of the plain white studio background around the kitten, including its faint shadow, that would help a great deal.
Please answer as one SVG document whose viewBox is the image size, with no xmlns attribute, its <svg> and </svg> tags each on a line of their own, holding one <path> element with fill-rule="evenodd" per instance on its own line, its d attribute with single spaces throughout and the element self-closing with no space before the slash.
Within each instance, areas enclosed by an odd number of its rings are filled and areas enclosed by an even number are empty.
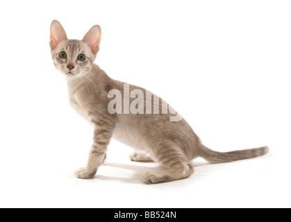
<svg viewBox="0 0 291 222">
<path fill-rule="evenodd" d="M 291 207 L 290 1 L 1 1 L 0 207 Z M 206 146 L 267 145 L 256 160 L 205 164 L 144 185 L 155 163 L 112 141 L 92 180 L 74 178 L 92 128 L 69 107 L 49 26 L 102 28 L 97 64 L 165 99 Z"/>
</svg>

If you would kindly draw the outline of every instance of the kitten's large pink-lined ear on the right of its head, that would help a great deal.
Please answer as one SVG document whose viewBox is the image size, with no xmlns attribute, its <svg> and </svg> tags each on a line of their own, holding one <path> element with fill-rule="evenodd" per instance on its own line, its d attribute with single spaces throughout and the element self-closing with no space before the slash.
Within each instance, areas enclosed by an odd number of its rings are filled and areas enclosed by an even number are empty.
<svg viewBox="0 0 291 222">
<path fill-rule="evenodd" d="M 83 37 L 83 41 L 90 46 L 90 49 L 94 55 L 99 51 L 101 41 L 101 28 L 96 25 L 93 26 L 88 33 Z"/>
</svg>

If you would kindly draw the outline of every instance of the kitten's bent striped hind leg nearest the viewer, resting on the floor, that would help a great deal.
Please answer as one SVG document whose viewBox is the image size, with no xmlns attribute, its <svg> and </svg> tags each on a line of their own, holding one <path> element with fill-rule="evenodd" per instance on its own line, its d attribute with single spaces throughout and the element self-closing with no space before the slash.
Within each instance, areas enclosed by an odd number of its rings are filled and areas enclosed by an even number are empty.
<svg viewBox="0 0 291 222">
<path fill-rule="evenodd" d="M 190 164 L 190 160 L 176 146 L 160 148 L 158 152 L 153 152 L 153 155 L 160 164 L 167 167 L 167 170 L 145 173 L 142 176 L 142 181 L 147 184 L 181 180 L 188 178 L 188 176 L 194 173 L 194 168 Z"/>
</svg>

